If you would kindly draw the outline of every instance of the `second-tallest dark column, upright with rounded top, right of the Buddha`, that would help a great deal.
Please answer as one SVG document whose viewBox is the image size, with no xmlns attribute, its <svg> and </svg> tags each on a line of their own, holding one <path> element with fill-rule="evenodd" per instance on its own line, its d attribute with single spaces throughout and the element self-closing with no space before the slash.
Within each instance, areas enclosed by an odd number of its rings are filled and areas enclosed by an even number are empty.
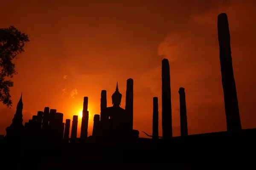
<svg viewBox="0 0 256 170">
<path fill-rule="evenodd" d="M 168 59 L 162 60 L 162 128 L 163 138 L 172 138 L 171 80 Z"/>
</svg>

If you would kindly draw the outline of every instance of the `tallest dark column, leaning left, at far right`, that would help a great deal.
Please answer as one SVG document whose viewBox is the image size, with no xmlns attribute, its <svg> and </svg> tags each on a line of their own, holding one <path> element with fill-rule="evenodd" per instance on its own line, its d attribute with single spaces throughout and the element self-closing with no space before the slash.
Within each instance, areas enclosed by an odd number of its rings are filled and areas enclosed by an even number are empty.
<svg viewBox="0 0 256 170">
<path fill-rule="evenodd" d="M 227 14 L 225 13 L 218 15 L 218 41 L 227 131 L 236 132 L 241 130 L 242 127 L 236 94 L 236 82 L 233 73 L 229 24 Z"/>
</svg>

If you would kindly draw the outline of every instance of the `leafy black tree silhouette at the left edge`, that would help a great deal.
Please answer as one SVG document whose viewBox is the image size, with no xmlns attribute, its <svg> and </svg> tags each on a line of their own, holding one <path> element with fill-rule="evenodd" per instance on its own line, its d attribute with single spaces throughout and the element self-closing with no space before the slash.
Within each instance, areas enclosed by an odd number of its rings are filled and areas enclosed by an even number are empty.
<svg viewBox="0 0 256 170">
<path fill-rule="evenodd" d="M 13 86 L 13 82 L 11 78 L 17 74 L 12 59 L 17 58 L 17 55 L 24 51 L 25 42 L 29 42 L 29 37 L 14 26 L 0 28 L 0 102 L 3 102 L 7 108 L 12 107 L 10 87 Z"/>
</svg>

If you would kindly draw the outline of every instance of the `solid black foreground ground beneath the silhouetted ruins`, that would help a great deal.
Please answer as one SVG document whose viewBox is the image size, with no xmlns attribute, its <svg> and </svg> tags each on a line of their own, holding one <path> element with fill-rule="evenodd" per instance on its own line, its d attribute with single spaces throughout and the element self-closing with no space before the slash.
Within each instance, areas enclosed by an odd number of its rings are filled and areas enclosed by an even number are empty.
<svg viewBox="0 0 256 170">
<path fill-rule="evenodd" d="M 256 129 L 125 142 L 1 143 L 4 169 L 256 169 Z M 1 157 L 2 157 L 1 156 Z"/>
</svg>

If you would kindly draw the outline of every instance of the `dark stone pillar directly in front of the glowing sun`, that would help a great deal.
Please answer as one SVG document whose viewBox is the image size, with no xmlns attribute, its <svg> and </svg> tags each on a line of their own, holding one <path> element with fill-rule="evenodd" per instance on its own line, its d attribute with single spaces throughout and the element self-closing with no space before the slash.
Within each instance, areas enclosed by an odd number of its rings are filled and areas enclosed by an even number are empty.
<svg viewBox="0 0 256 170">
<path fill-rule="evenodd" d="M 88 135 L 88 121 L 89 121 L 89 111 L 88 111 L 88 97 L 84 97 L 84 107 L 83 107 L 83 117 L 81 123 L 81 139 L 86 139 Z"/>
</svg>

